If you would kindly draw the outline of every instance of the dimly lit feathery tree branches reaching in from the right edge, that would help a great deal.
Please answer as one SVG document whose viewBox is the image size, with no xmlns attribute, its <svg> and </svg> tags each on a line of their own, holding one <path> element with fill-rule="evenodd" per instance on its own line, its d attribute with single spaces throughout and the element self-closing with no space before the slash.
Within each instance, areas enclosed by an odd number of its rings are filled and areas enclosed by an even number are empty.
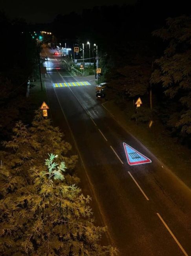
<svg viewBox="0 0 191 256">
<path fill-rule="evenodd" d="M 185 137 L 191 134 L 191 17 L 168 18 L 166 28 L 153 35 L 165 41 L 164 55 L 156 60 L 158 66 L 151 76 L 151 83 L 160 84 L 172 109 L 169 125 Z"/>
</svg>

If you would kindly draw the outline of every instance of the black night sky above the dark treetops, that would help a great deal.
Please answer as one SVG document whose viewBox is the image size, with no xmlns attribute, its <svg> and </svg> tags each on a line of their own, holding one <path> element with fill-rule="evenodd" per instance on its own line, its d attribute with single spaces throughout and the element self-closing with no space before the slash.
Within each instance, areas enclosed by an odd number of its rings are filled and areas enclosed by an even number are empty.
<svg viewBox="0 0 191 256">
<path fill-rule="evenodd" d="M 51 4 L 49 4 L 51 2 Z M 20 17 L 27 22 L 46 23 L 51 22 L 57 14 L 68 14 L 72 11 L 81 13 L 83 9 L 94 6 L 113 5 L 113 4 L 133 4 L 136 0 L 83 0 L 83 1 L 4 1 L 1 8 L 9 18 Z M 10 8 L 11 6 L 11 8 Z"/>
</svg>

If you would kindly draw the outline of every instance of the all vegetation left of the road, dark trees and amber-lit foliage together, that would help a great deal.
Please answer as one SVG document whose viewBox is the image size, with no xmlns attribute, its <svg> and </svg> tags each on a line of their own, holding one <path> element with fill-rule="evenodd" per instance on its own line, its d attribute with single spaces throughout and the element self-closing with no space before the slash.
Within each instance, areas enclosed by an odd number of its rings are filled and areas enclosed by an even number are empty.
<svg viewBox="0 0 191 256">
<path fill-rule="evenodd" d="M 116 255 L 101 245 L 107 228 L 94 224 L 70 143 L 35 111 L 45 91 L 26 97 L 28 79 L 39 85 L 40 48 L 23 20 L 0 12 L 0 30 L 17 49 L 3 51 L 0 72 L 0 254 Z"/>
</svg>

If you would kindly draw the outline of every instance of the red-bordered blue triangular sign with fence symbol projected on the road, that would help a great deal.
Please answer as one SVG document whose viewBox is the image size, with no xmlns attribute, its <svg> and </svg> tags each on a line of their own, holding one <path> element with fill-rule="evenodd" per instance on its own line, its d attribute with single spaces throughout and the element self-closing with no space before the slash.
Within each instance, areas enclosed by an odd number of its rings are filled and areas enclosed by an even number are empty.
<svg viewBox="0 0 191 256">
<path fill-rule="evenodd" d="M 143 163 L 152 162 L 149 158 L 138 152 L 136 149 L 130 147 L 125 142 L 123 143 L 123 147 L 125 149 L 127 162 L 129 163 L 129 165 L 141 165 Z"/>
</svg>

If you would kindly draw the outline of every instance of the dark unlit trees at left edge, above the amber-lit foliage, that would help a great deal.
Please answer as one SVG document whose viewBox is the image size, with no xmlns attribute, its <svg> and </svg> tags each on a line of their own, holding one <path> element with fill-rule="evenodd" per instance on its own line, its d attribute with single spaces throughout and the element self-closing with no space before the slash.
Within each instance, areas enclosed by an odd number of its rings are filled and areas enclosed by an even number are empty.
<svg viewBox="0 0 191 256">
<path fill-rule="evenodd" d="M 0 12 L 0 139 L 8 139 L 16 121 L 29 122 L 31 102 L 26 100 L 28 79 L 38 77 L 36 42 L 22 19 L 10 20 Z"/>
</svg>

